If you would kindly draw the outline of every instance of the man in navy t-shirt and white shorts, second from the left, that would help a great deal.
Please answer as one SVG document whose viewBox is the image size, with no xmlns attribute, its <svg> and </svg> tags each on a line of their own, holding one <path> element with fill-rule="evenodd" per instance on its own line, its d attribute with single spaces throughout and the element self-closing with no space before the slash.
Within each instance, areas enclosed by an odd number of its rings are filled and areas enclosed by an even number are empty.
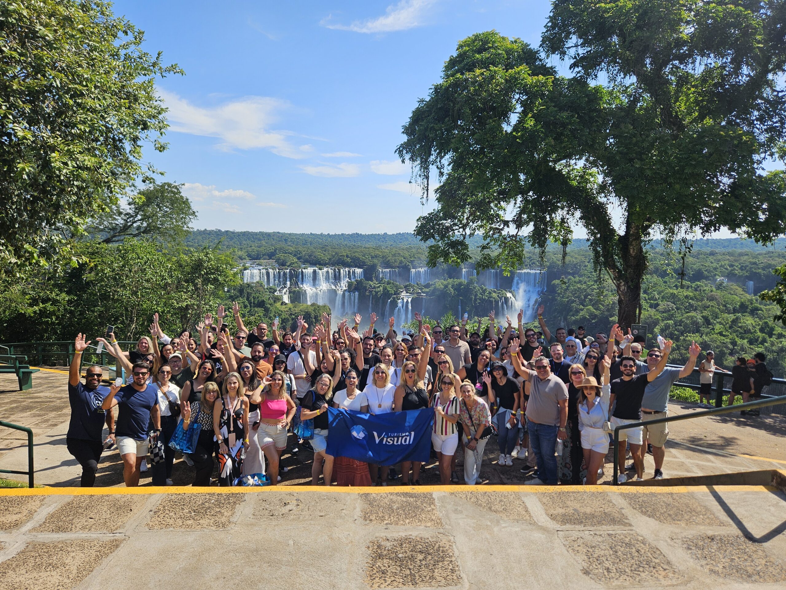
<svg viewBox="0 0 786 590">
<path fill-rule="evenodd" d="M 148 363 L 131 367 L 134 382 L 125 387 L 112 385 L 101 404 L 105 410 L 118 406 L 116 423 L 117 449 L 123 457 L 123 479 L 126 487 L 139 485 L 139 466 L 148 453 L 148 424 L 152 419 L 153 437 L 161 432 L 161 413 L 156 385 L 147 382 Z"/>
</svg>

